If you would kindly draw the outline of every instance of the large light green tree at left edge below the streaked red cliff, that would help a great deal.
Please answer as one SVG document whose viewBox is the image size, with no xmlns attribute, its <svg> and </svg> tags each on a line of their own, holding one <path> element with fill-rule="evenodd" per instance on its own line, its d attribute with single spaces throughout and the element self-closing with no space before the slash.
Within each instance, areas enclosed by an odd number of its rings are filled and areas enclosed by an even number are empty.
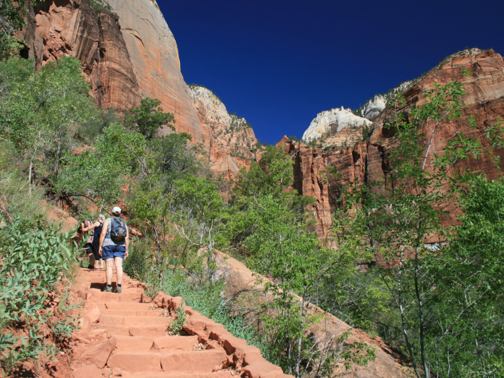
<svg viewBox="0 0 504 378">
<path fill-rule="evenodd" d="M 17 146 L 28 178 L 53 184 L 79 125 L 95 122 L 99 112 L 88 97 L 89 84 L 73 57 L 49 62 L 36 73 L 33 60 L 0 63 L 6 74 L 0 93 L 0 130 Z"/>
</svg>

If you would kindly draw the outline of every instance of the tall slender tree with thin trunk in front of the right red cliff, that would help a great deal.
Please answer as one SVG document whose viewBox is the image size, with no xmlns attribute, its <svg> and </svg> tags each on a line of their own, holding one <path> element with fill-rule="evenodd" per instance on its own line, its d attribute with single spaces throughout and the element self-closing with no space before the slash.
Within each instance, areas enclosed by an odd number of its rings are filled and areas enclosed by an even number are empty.
<svg viewBox="0 0 504 378">
<path fill-rule="evenodd" d="M 454 255 L 454 249 L 434 251 L 429 247 L 433 235 L 443 235 L 446 204 L 456 203 L 461 188 L 467 187 L 473 176 L 459 169 L 457 163 L 490 153 L 491 148 L 502 148 L 500 121 L 480 129 L 478 138 L 455 133 L 443 140 L 448 125 L 460 118 L 463 94 L 458 82 L 445 86 L 434 83 L 424 95 L 424 105 L 406 115 L 398 114 L 388 126 L 394 133 L 388 149 L 390 168 L 382 181 L 373 183 L 379 190 L 357 186 L 347 197 L 354 201 L 356 211 L 350 231 L 364 237 L 378 262 L 399 312 L 405 352 L 418 377 L 428 378 L 434 371 L 440 376 L 453 373 L 440 362 L 449 357 L 441 352 L 446 351 L 444 343 L 450 339 L 448 335 L 456 337 L 455 325 L 468 333 L 471 328 L 461 317 L 452 318 L 445 336 L 431 327 L 450 319 L 446 314 L 453 310 L 451 296 L 456 285 L 448 283 L 449 264 L 464 259 Z M 401 97 L 395 101 L 398 108 L 404 108 Z M 474 121 L 470 122 L 475 127 Z M 463 293 L 469 294 L 469 288 L 464 287 L 467 290 Z M 476 306 L 483 300 L 473 299 L 475 302 L 466 302 L 466 306 Z M 470 353 L 477 355 L 476 351 Z"/>
</svg>

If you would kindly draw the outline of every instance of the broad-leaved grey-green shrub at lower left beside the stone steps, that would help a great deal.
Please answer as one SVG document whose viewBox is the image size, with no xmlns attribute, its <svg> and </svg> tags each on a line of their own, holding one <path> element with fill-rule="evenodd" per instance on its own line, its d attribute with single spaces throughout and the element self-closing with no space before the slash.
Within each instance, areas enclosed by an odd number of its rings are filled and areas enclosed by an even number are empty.
<svg viewBox="0 0 504 378">
<path fill-rule="evenodd" d="M 57 351 L 40 330 L 50 325 L 46 298 L 71 271 L 74 252 L 68 233 L 47 225 L 43 217 L 12 221 L 0 215 L 0 365 L 10 372 L 17 363 Z M 56 338 L 64 341 L 74 330 L 74 319 L 64 318 Z M 16 329 L 26 330 L 19 336 Z M 57 341 L 56 339 L 56 341 Z M 64 343 L 63 343 L 64 344 Z"/>
</svg>

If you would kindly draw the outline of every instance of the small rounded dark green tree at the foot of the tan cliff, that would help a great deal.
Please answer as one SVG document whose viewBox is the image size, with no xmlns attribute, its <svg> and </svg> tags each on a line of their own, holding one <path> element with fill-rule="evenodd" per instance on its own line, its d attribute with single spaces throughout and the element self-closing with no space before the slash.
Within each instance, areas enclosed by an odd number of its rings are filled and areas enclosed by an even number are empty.
<svg viewBox="0 0 504 378">
<path fill-rule="evenodd" d="M 163 126 L 175 131 L 172 124 L 175 122 L 173 114 L 163 113 L 163 108 L 159 104 L 161 101 L 155 98 L 142 99 L 139 107 L 131 109 L 131 115 L 125 119 L 126 123 L 145 135 L 147 140 L 151 140 Z"/>
</svg>

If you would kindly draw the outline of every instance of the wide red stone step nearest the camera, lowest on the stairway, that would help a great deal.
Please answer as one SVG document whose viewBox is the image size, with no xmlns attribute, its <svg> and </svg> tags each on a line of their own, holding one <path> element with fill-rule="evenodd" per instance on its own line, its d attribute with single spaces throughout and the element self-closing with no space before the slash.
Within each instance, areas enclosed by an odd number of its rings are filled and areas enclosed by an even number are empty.
<svg viewBox="0 0 504 378">
<path fill-rule="evenodd" d="M 218 349 L 174 353 L 116 351 L 108 358 L 107 366 L 130 372 L 211 373 L 219 370 L 225 359 L 226 353 Z"/>
</svg>

